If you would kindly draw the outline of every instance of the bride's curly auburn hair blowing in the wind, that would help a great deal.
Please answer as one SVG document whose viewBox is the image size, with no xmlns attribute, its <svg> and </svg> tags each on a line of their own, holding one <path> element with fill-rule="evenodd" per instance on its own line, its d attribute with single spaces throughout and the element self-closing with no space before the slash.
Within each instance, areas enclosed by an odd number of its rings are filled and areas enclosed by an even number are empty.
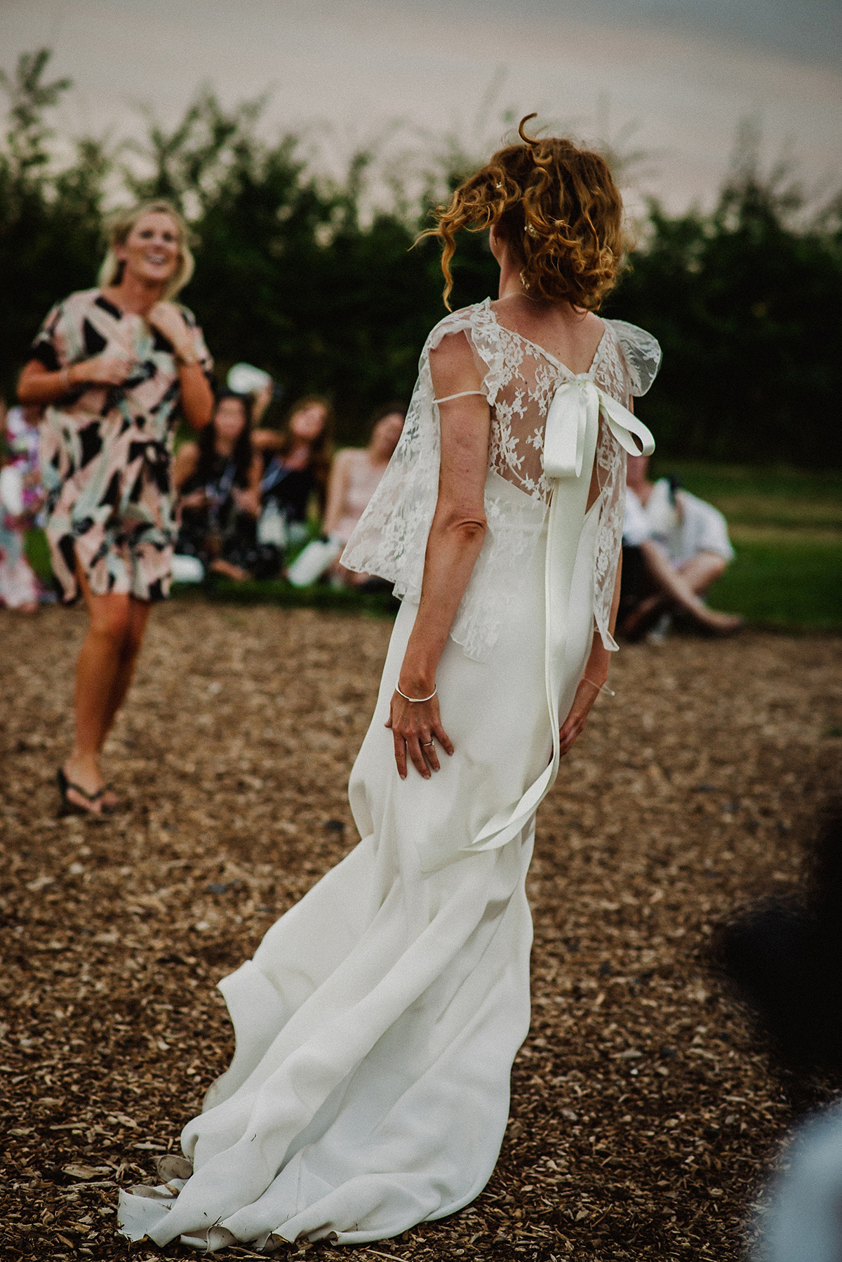
<svg viewBox="0 0 842 1262">
<path fill-rule="evenodd" d="M 630 242 L 608 164 L 597 153 L 577 149 L 572 140 L 526 135 L 524 125 L 534 117 L 528 114 L 520 121 L 523 144 L 497 150 L 460 184 L 448 206 L 436 207 L 436 227 L 420 235 L 444 242 L 448 310 L 451 259 L 461 228 L 482 232 L 495 226 L 520 265 L 530 297 L 598 310 L 616 283 Z"/>
</svg>

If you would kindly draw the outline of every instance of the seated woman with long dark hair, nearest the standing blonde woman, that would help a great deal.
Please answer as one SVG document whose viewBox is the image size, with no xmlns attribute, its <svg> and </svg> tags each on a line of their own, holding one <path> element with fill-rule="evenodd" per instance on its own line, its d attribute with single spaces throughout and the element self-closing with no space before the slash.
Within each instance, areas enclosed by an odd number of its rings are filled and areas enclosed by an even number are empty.
<svg viewBox="0 0 842 1262">
<path fill-rule="evenodd" d="M 251 447 L 249 400 L 223 391 L 213 420 L 173 463 L 181 526 L 175 551 L 206 572 L 242 581 L 256 564 L 260 457 Z"/>
</svg>

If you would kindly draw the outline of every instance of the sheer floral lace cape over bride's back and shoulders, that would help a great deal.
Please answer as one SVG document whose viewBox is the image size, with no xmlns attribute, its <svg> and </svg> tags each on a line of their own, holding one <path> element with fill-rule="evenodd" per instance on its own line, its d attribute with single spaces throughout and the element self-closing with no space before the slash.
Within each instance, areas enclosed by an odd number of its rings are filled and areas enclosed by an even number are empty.
<svg viewBox="0 0 842 1262">
<path fill-rule="evenodd" d="M 552 497 L 544 476 L 547 413 L 558 386 L 573 374 L 542 347 L 505 328 L 490 299 L 446 317 L 427 339 L 418 382 L 395 454 L 362 514 L 342 564 L 395 584 L 395 594 L 420 598 L 427 536 L 436 511 L 439 469 L 438 408 L 429 353 L 451 333 L 463 332 L 485 370 L 491 406 L 486 540 L 460 604 L 451 636 L 467 656 L 482 660 L 494 647 L 506 610 L 543 529 Z M 660 365 L 655 339 L 621 321 L 605 321 L 605 334 L 588 376 L 619 403 L 641 395 Z M 608 649 L 608 631 L 625 516 L 625 452 L 600 419 L 596 451 L 598 514 L 593 555 L 593 617 Z"/>
</svg>

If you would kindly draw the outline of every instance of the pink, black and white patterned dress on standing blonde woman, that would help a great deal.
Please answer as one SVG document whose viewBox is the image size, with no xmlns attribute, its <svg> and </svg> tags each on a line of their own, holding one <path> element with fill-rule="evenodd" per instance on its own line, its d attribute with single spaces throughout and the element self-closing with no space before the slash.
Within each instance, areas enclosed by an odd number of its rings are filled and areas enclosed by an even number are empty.
<svg viewBox="0 0 842 1262">
<path fill-rule="evenodd" d="M 202 331 L 181 307 L 206 372 Z M 170 459 L 179 379 L 172 343 L 98 289 L 71 294 L 49 313 L 32 348 L 49 372 L 95 355 L 134 361 L 120 386 L 85 385 L 44 413 L 40 463 L 47 538 L 62 599 L 78 596 L 76 558 L 96 596 L 160 601 L 175 540 Z"/>
</svg>

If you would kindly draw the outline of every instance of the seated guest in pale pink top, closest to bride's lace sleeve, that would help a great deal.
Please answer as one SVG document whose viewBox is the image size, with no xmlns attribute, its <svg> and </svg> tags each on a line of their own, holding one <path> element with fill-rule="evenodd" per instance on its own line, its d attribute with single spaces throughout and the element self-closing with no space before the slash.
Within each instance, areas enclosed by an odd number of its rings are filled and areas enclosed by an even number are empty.
<svg viewBox="0 0 842 1262">
<path fill-rule="evenodd" d="M 327 486 L 323 534 L 341 540 L 343 545 L 348 541 L 351 531 L 386 472 L 386 464 L 398 445 L 405 419 L 406 409 L 403 404 L 386 404 L 385 408 L 377 409 L 369 423 L 367 447 L 364 449 L 346 447 L 337 452 Z M 369 574 L 346 569 L 338 560 L 331 567 L 331 577 L 336 583 L 353 587 L 370 583 Z"/>
</svg>

